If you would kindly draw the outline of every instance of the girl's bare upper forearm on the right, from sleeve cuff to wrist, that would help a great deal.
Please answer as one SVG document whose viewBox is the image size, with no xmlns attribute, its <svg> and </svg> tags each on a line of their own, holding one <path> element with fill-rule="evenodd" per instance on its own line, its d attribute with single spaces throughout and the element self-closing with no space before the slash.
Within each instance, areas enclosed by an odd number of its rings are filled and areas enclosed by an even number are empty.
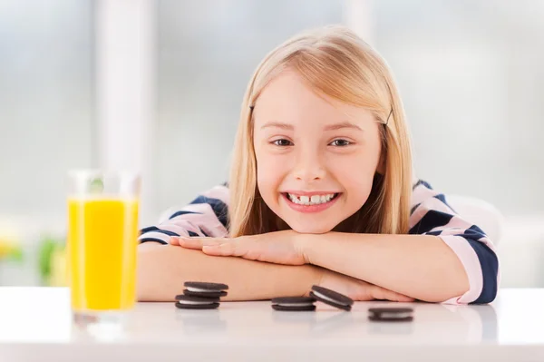
<svg viewBox="0 0 544 362">
<path fill-rule="evenodd" d="M 328 232 L 311 235 L 304 250 L 314 265 L 425 301 L 469 289 L 460 259 L 435 236 Z"/>
</svg>

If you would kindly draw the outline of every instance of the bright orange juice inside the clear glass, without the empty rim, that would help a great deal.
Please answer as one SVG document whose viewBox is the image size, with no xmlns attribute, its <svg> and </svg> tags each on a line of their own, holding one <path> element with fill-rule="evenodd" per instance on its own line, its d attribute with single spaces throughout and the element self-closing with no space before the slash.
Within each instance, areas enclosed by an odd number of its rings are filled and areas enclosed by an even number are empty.
<svg viewBox="0 0 544 362">
<path fill-rule="evenodd" d="M 136 299 L 138 201 L 69 199 L 68 221 L 73 310 L 131 308 Z"/>
</svg>

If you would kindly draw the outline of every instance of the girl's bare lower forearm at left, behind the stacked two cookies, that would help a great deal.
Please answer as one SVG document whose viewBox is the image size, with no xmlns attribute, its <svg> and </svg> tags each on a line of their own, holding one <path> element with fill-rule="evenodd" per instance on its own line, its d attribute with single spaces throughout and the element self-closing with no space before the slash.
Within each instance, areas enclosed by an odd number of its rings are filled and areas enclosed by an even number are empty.
<svg viewBox="0 0 544 362">
<path fill-rule="evenodd" d="M 241 258 L 211 257 L 198 250 L 144 243 L 138 250 L 138 299 L 173 301 L 185 281 L 228 284 L 224 300 L 302 296 L 320 279 L 314 266 L 285 266 Z"/>
</svg>

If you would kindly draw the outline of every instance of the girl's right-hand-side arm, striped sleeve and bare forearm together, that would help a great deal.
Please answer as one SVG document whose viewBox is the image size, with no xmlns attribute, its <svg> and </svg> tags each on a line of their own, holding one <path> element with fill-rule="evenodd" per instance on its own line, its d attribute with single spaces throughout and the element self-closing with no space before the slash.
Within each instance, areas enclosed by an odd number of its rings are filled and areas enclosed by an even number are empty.
<svg viewBox="0 0 544 362">
<path fill-rule="evenodd" d="M 312 235 L 303 249 L 313 264 L 413 298 L 464 304 L 496 297 L 491 240 L 424 181 L 414 186 L 410 228 L 412 235 Z"/>
</svg>

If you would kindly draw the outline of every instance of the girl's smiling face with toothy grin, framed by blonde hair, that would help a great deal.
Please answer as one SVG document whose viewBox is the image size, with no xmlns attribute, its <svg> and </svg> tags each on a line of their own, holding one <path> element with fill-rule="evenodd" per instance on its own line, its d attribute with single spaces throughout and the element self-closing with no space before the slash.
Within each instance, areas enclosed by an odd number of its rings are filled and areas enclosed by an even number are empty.
<svg viewBox="0 0 544 362">
<path fill-rule="evenodd" d="M 369 111 L 310 89 L 293 71 L 280 73 L 257 99 L 257 187 L 291 229 L 333 230 L 368 199 L 383 172 L 381 125 Z"/>
</svg>

